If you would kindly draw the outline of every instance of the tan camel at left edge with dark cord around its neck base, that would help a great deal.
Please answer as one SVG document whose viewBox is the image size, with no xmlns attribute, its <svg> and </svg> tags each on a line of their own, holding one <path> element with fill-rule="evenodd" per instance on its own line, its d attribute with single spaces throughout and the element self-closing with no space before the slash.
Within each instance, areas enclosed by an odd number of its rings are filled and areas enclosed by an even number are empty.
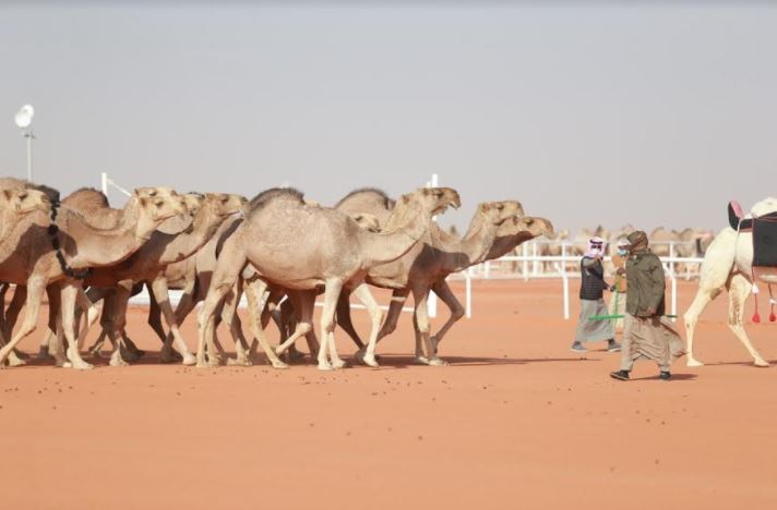
<svg viewBox="0 0 777 510">
<path fill-rule="evenodd" d="M 22 339 L 36 328 L 43 293 L 49 295 L 49 329 L 56 312 L 62 313 L 68 360 L 76 368 L 84 362 L 73 337 L 75 300 L 88 268 L 123 260 L 134 253 L 165 219 L 184 212 L 180 197 L 133 196 L 120 223 L 99 229 L 67 206 L 52 209 L 55 221 L 40 212 L 27 215 L 3 240 L 0 280 L 26 287 L 26 311 L 19 331 L 0 349 L 0 365 Z M 61 344 L 59 345 L 61 348 Z"/>
</svg>

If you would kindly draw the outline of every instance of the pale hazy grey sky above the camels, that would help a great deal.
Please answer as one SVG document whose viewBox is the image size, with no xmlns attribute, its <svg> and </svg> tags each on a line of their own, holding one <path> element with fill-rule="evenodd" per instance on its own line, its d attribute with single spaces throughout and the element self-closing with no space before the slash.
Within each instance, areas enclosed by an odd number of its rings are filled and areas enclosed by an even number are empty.
<svg viewBox="0 0 777 510">
<path fill-rule="evenodd" d="M 105 171 L 333 205 L 438 173 L 443 224 L 518 199 L 571 230 L 717 229 L 777 195 L 768 2 L 69 5 L 0 0 L 0 173 L 26 174 L 29 102 L 35 180 L 64 194 Z"/>
</svg>

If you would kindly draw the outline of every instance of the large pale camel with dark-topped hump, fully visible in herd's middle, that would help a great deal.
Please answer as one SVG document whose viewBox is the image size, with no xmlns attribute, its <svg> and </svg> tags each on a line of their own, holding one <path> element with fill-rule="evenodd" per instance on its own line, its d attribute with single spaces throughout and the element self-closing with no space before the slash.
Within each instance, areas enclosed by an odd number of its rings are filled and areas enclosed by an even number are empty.
<svg viewBox="0 0 777 510">
<path fill-rule="evenodd" d="M 434 187 L 404 195 L 401 202 L 402 205 L 395 207 L 397 214 L 384 226 L 384 232 L 372 233 L 340 210 L 306 205 L 302 194 L 295 190 L 273 189 L 258 195 L 252 201 L 251 211 L 227 239 L 218 258 L 198 320 L 198 366 L 205 366 L 204 343 L 206 338 L 212 338 L 215 308 L 249 263 L 268 283 L 297 291 L 298 329 L 300 325 L 310 324 L 315 290 L 324 286 L 319 369 L 345 366 L 334 342 L 334 313 L 342 289 L 360 288 L 371 268 L 396 260 L 418 244 L 430 227 L 432 215 L 461 203 L 454 190 Z M 255 316 L 258 296 L 253 289 L 253 284 L 246 287 L 252 329 L 273 365 L 280 366 L 283 362 L 267 345 Z M 289 340 L 294 341 L 294 337 Z M 376 364 L 375 339 L 370 340 L 364 357 L 370 364 Z"/>
</svg>

